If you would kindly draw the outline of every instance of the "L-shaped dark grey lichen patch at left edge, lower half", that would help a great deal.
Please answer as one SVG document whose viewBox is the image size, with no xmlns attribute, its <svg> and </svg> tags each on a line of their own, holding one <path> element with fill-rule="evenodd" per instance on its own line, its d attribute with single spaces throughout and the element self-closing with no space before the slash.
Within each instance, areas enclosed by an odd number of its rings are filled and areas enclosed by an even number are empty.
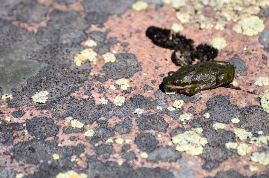
<svg viewBox="0 0 269 178">
<path fill-rule="evenodd" d="M 13 131 L 23 130 L 23 123 L 10 123 L 2 122 L 0 124 L 0 143 L 3 145 L 12 145 L 13 143 Z"/>
</svg>

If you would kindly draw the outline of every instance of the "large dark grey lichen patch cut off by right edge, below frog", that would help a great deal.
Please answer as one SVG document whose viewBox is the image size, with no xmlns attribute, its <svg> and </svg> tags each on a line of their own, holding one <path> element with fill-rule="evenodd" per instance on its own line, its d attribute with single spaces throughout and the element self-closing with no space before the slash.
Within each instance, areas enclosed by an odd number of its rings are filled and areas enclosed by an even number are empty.
<svg viewBox="0 0 269 178">
<path fill-rule="evenodd" d="M 263 108 L 257 105 L 240 109 L 240 122 L 235 124 L 236 127 L 250 131 L 252 134 L 257 134 L 263 131 L 264 134 L 269 134 L 269 114 L 263 111 Z"/>
</svg>

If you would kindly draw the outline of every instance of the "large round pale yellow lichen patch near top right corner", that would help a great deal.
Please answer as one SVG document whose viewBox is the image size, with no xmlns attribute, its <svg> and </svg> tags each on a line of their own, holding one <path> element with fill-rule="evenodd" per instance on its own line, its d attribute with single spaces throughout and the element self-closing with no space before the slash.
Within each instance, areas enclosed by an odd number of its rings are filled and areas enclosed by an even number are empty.
<svg viewBox="0 0 269 178">
<path fill-rule="evenodd" d="M 241 24 L 243 34 L 247 36 L 257 35 L 265 28 L 263 20 L 260 19 L 258 16 L 245 17 L 238 23 Z"/>
</svg>

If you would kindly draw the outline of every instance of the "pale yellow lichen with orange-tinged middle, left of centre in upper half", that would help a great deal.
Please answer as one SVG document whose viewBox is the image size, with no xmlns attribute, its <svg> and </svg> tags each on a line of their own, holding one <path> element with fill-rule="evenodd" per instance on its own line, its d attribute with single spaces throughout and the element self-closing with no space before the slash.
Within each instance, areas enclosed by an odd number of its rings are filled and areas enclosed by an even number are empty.
<svg viewBox="0 0 269 178">
<path fill-rule="evenodd" d="M 93 51 L 91 48 L 80 51 L 79 54 L 76 54 L 74 57 L 74 63 L 76 66 L 80 67 L 81 64 L 84 64 L 86 60 L 92 62 L 94 65 L 96 64 L 96 56 L 97 53 Z"/>
</svg>

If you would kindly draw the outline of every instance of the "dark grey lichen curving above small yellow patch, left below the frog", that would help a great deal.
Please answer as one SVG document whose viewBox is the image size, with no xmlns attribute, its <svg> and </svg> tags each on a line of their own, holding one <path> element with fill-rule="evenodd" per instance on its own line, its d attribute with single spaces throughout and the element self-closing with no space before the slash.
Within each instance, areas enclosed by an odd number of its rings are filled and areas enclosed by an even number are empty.
<svg viewBox="0 0 269 178">
<path fill-rule="evenodd" d="M 113 115 L 118 117 L 130 116 L 137 109 L 149 110 L 153 108 L 152 98 L 144 97 L 142 95 L 134 95 L 129 100 L 126 100 L 121 107 L 116 107 Z"/>
</svg>

